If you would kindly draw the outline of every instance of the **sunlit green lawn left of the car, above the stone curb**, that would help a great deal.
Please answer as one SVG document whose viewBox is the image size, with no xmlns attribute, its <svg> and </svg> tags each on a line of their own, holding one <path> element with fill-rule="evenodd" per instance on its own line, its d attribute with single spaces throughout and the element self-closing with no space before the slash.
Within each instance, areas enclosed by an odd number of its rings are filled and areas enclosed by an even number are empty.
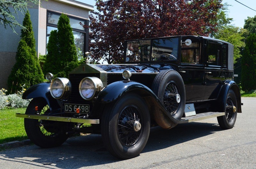
<svg viewBox="0 0 256 169">
<path fill-rule="evenodd" d="M 15 113 L 25 113 L 26 108 L 0 110 L 0 144 L 28 139 L 24 129 L 24 118 Z"/>
</svg>

